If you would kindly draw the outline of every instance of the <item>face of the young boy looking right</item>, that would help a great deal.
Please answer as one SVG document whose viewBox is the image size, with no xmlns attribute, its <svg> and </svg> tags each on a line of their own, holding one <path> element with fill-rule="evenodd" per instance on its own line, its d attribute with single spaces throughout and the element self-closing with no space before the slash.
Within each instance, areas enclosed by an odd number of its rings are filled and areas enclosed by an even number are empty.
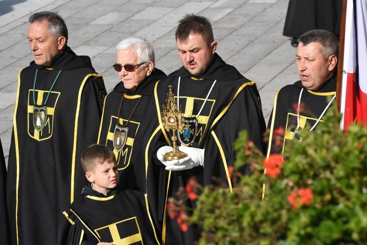
<svg viewBox="0 0 367 245">
<path fill-rule="evenodd" d="M 86 177 L 92 182 L 94 190 L 107 195 L 107 192 L 117 185 L 117 164 L 115 162 L 108 163 L 107 161 L 102 164 L 97 163 L 94 171 L 87 172 Z"/>
</svg>

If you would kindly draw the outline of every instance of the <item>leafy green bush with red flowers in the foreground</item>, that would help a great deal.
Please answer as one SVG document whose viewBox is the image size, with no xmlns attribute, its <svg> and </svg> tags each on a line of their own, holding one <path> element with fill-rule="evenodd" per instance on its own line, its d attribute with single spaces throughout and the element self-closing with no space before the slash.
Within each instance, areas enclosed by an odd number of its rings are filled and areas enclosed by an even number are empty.
<svg viewBox="0 0 367 245">
<path fill-rule="evenodd" d="M 268 159 L 241 132 L 232 193 L 186 188 L 202 192 L 190 194 L 197 207 L 184 219 L 202 227 L 199 244 L 367 244 L 367 128 L 343 132 L 335 114 L 329 110 L 327 123 L 306 127 L 301 143 Z M 251 175 L 236 171 L 245 165 Z"/>
</svg>

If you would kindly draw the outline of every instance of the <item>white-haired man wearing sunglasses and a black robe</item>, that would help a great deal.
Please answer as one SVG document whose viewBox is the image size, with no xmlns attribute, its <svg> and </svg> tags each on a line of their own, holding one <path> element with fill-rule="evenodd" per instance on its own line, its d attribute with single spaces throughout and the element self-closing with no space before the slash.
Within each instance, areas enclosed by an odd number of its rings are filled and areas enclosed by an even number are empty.
<svg viewBox="0 0 367 245">
<path fill-rule="evenodd" d="M 144 146 L 149 140 L 152 120 L 157 120 L 154 85 L 166 74 L 155 68 L 153 45 L 142 37 L 122 40 L 116 51 L 117 61 L 113 67 L 121 81 L 105 98 L 98 144 L 114 151 L 119 185 L 147 194 L 152 213 L 156 214 L 159 180 L 156 172 L 160 170 L 148 166 Z"/>
</svg>

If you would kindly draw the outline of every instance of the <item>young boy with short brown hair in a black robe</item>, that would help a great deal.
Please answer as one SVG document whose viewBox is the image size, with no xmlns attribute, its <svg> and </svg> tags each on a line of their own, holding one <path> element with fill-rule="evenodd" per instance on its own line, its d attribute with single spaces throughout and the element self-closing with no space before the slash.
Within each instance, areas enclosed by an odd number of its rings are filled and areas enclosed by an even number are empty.
<svg viewBox="0 0 367 245">
<path fill-rule="evenodd" d="M 94 144 L 81 162 L 90 183 L 63 212 L 57 244 L 160 244 L 146 195 L 118 186 L 113 151 Z"/>
</svg>

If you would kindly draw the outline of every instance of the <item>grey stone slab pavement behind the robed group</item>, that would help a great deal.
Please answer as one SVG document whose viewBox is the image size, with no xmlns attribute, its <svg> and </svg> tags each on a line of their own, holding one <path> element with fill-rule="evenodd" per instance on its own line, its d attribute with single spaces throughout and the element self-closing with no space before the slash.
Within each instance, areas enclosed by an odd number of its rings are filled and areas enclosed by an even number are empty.
<svg viewBox="0 0 367 245">
<path fill-rule="evenodd" d="M 33 56 L 27 44 L 28 17 L 58 11 L 69 29 L 68 45 L 89 55 L 111 91 L 118 75 L 115 45 L 140 35 L 156 51 L 156 67 L 169 74 L 182 66 L 175 42 L 178 21 L 186 13 L 212 23 L 217 53 L 255 81 L 268 122 L 276 91 L 298 80 L 296 49 L 282 36 L 288 0 L 0 0 L 0 138 L 9 152 L 18 72 Z M 25 122 L 24 122 L 25 123 Z"/>
</svg>

